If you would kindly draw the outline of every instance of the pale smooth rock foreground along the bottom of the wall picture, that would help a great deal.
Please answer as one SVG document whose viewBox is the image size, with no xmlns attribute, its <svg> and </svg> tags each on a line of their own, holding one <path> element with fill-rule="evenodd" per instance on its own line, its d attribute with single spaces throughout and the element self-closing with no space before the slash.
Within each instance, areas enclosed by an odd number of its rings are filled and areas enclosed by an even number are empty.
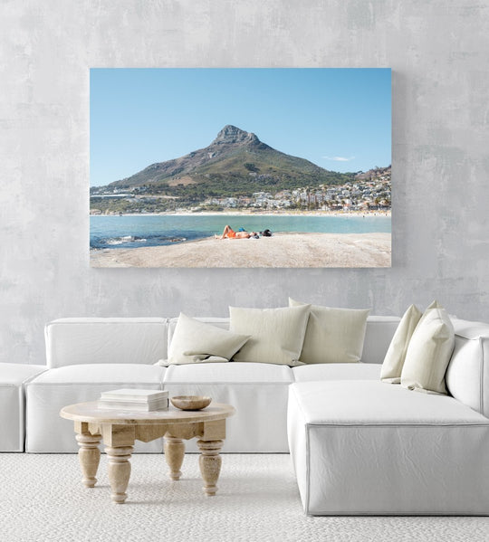
<svg viewBox="0 0 489 542">
<path fill-rule="evenodd" d="M 91 250 L 91 267 L 390 267 L 390 233 L 276 233 Z"/>
</svg>

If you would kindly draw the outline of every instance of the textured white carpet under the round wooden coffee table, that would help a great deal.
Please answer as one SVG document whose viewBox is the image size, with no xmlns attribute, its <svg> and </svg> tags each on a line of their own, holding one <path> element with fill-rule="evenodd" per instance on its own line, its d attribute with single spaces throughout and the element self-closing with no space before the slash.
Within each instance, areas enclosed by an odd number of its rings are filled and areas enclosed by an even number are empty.
<svg viewBox="0 0 489 542">
<path fill-rule="evenodd" d="M 159 455 L 132 457 L 128 500 L 110 501 L 106 458 L 97 487 L 82 487 L 71 454 L 0 454 L 2 542 L 476 541 L 489 518 L 308 518 L 288 455 L 224 455 L 216 497 L 206 498 L 197 454 L 183 478 Z"/>
</svg>

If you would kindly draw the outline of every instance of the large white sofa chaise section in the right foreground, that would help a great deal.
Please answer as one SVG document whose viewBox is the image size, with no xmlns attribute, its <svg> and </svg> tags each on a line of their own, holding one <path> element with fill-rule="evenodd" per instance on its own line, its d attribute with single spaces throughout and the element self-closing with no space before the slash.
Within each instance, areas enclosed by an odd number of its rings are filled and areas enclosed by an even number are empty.
<svg viewBox="0 0 489 542">
<path fill-rule="evenodd" d="M 308 514 L 487 514 L 489 420 L 453 397 L 292 384 L 287 431 Z"/>
</svg>

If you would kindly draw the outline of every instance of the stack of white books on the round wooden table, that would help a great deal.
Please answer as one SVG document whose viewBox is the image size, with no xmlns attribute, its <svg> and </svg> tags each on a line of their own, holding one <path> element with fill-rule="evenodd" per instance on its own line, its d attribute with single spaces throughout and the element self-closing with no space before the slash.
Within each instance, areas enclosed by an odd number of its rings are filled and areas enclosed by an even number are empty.
<svg viewBox="0 0 489 542">
<path fill-rule="evenodd" d="M 157 390 L 120 389 L 103 392 L 99 408 L 151 412 L 168 410 L 168 392 Z"/>
</svg>

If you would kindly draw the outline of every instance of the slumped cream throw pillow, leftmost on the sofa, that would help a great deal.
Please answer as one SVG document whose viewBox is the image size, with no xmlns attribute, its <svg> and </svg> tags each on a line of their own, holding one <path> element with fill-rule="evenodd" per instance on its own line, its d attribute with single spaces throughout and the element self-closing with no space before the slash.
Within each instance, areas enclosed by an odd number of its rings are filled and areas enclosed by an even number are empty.
<svg viewBox="0 0 489 542">
<path fill-rule="evenodd" d="M 229 361 L 248 338 L 248 335 L 216 328 L 181 312 L 168 349 L 168 360 L 161 360 L 159 365 Z"/>
</svg>

